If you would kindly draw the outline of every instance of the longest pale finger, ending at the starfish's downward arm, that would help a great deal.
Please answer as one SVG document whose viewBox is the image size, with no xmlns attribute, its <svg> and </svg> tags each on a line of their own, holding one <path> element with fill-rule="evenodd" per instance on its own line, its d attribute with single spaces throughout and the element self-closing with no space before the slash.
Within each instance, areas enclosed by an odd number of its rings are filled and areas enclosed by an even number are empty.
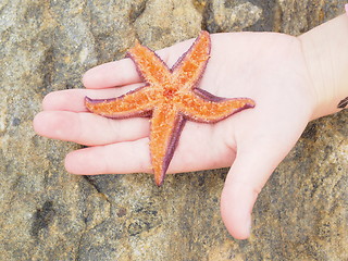
<svg viewBox="0 0 348 261">
<path fill-rule="evenodd" d="M 146 137 L 149 120 L 110 120 L 91 113 L 44 111 L 35 116 L 34 129 L 45 137 L 96 146 Z"/>
</svg>

